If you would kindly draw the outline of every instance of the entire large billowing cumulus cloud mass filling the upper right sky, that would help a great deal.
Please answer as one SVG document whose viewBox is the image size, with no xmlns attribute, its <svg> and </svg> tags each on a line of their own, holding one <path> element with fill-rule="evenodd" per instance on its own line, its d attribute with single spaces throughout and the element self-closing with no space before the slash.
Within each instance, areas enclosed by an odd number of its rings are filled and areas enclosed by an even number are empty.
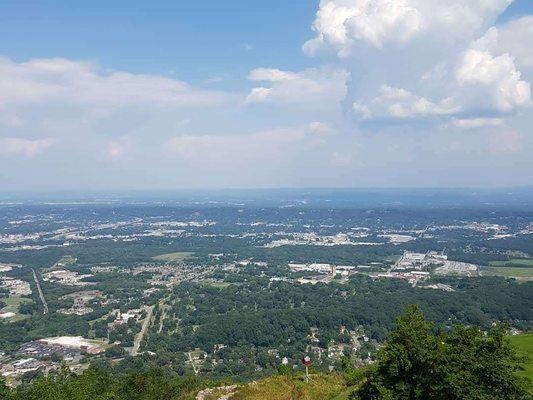
<svg viewBox="0 0 533 400">
<path fill-rule="evenodd" d="M 520 43 L 515 52 L 522 59 L 533 52 L 526 47 L 533 20 L 499 28 L 500 39 L 491 28 L 511 2 L 321 0 L 316 38 L 304 51 L 337 53 L 336 62 L 351 71 L 343 103 L 359 120 L 386 124 L 438 116 L 442 124 L 459 114 L 481 119 L 510 114 L 530 105 L 531 90 L 513 55 L 502 51 L 502 32 L 505 42 Z M 272 98 L 271 88 L 264 89 L 269 92 L 253 96 Z"/>
</svg>

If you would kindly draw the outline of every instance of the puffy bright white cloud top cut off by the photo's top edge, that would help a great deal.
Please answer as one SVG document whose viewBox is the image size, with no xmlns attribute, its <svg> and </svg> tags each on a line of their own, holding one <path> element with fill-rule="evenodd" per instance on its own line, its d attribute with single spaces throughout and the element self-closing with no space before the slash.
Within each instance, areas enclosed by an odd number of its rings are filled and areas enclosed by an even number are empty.
<svg viewBox="0 0 533 400">
<path fill-rule="evenodd" d="M 363 42 L 381 48 L 413 39 L 439 36 L 471 37 L 512 0 L 321 0 L 313 30 L 316 38 L 304 45 L 315 54 L 333 48 L 340 57 Z"/>
</svg>

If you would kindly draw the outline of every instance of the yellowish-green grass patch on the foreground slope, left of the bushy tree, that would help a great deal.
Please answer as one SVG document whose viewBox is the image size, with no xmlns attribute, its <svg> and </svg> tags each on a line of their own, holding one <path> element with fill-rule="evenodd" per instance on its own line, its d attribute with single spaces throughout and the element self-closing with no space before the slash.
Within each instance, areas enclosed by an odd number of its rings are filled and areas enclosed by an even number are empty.
<svg viewBox="0 0 533 400">
<path fill-rule="evenodd" d="M 232 400 L 342 400 L 346 394 L 346 383 L 339 374 L 313 374 L 309 383 L 302 375 L 278 375 L 239 389 Z"/>
</svg>

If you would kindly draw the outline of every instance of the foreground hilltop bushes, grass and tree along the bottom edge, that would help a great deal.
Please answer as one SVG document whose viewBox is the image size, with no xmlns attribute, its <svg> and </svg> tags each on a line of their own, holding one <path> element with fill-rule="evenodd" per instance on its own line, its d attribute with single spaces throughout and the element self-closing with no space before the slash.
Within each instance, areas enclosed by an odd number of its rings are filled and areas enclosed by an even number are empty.
<svg viewBox="0 0 533 400">
<path fill-rule="evenodd" d="M 524 360 L 506 332 L 506 326 L 498 325 L 487 333 L 466 326 L 445 333 L 427 322 L 417 306 L 410 306 L 397 318 L 389 341 L 370 367 L 357 368 L 343 357 L 343 374 L 312 374 L 307 384 L 301 374 L 279 365 L 278 376 L 239 389 L 235 398 L 345 399 L 353 391 L 353 400 L 529 400 L 525 380 L 517 375 Z M 225 350 L 229 351 L 220 351 Z M 240 359 L 244 355 L 236 354 Z M 131 363 L 129 370 L 150 364 L 142 357 L 126 361 Z M 244 371 L 232 365 L 225 368 L 234 378 Z M 62 363 L 55 374 L 11 391 L 0 381 L 0 399 L 192 400 L 206 386 L 196 378 L 169 375 L 159 368 L 113 373 L 109 366 L 93 366 L 75 375 Z"/>
</svg>

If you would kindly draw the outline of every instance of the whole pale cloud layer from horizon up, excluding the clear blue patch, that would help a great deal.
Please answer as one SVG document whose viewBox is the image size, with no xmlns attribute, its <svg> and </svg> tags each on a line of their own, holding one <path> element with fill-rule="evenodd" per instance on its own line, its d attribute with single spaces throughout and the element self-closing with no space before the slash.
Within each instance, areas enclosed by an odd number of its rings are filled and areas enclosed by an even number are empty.
<svg viewBox="0 0 533 400">
<path fill-rule="evenodd" d="M 0 185 L 531 184 L 533 16 L 511 3 L 321 0 L 306 67 L 259 64 L 233 90 L 210 89 L 224 71 L 6 55 Z"/>
</svg>

